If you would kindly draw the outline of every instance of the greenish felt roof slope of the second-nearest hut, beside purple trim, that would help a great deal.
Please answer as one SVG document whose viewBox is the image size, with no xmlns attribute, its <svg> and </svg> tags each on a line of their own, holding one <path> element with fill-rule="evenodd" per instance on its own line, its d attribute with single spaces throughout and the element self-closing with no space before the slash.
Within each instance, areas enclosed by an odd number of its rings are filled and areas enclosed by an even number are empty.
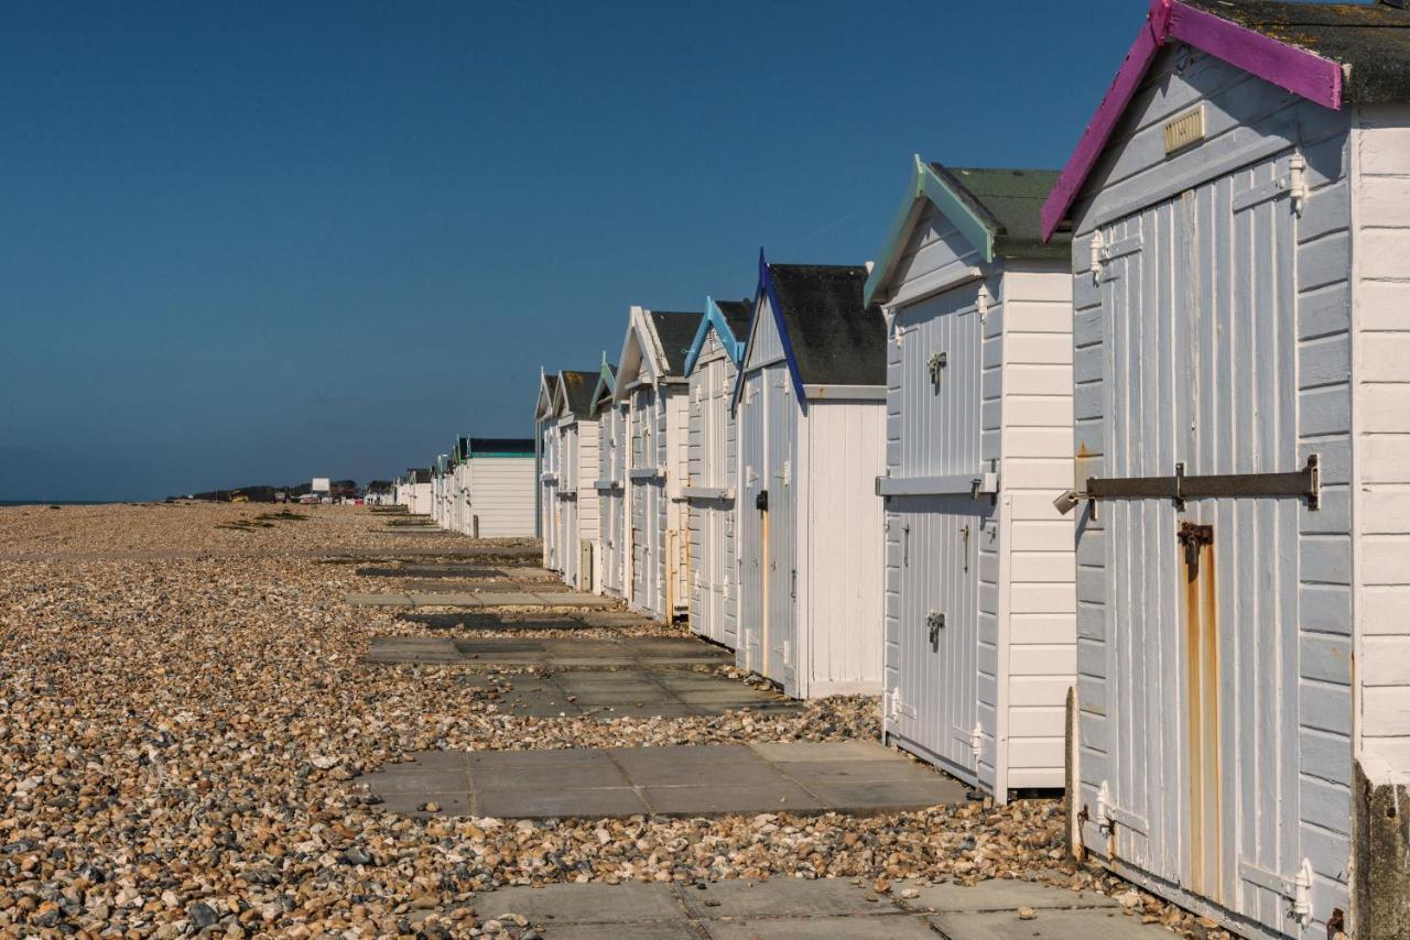
<svg viewBox="0 0 1410 940">
<path fill-rule="evenodd" d="M 1056 169 L 1000 169 L 943 166 L 931 169 L 994 233 L 994 252 L 1003 258 L 1066 258 L 1072 235 L 1058 233 L 1045 244 L 1039 218 Z"/>
</svg>

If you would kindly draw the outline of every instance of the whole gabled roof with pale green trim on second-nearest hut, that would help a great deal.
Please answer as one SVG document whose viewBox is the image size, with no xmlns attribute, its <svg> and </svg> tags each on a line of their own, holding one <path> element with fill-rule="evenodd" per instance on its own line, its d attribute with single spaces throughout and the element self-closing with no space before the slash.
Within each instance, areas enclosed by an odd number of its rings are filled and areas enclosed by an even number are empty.
<svg viewBox="0 0 1410 940">
<path fill-rule="evenodd" d="M 881 261 L 867 279 L 867 303 L 890 282 L 928 203 L 950 220 L 986 262 L 1066 256 L 1066 245 L 1043 244 L 1039 221 L 1043 199 L 1056 182 L 1055 169 L 946 168 L 916 155 Z"/>
</svg>

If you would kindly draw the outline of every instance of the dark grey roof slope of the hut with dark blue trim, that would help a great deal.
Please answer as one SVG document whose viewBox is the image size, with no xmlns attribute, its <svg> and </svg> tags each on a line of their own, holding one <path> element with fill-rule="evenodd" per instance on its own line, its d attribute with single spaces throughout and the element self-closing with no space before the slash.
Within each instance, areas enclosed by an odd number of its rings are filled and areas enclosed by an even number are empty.
<svg viewBox="0 0 1410 940">
<path fill-rule="evenodd" d="M 860 265 L 768 265 L 804 385 L 885 385 L 885 324 Z"/>
</svg>

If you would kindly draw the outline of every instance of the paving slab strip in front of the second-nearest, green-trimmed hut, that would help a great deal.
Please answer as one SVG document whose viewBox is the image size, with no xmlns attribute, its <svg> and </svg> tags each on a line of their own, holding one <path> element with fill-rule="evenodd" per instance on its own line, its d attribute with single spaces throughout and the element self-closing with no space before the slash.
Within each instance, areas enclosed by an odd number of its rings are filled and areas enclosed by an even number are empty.
<svg viewBox="0 0 1410 940">
<path fill-rule="evenodd" d="M 964 802 L 964 788 L 874 741 L 557 751 L 427 751 L 361 778 L 392 812 L 508 819 L 639 813 L 869 815 Z"/>
</svg>

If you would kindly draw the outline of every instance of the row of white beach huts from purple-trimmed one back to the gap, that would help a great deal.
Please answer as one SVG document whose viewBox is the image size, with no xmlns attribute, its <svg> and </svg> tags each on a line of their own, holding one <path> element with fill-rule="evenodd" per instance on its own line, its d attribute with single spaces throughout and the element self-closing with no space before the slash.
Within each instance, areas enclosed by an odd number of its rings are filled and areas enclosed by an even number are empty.
<svg viewBox="0 0 1410 940">
<path fill-rule="evenodd" d="M 1410 936 L 1399 7 L 1155 0 L 1060 172 L 632 307 L 540 376 L 544 565 L 1239 933 Z"/>
</svg>

